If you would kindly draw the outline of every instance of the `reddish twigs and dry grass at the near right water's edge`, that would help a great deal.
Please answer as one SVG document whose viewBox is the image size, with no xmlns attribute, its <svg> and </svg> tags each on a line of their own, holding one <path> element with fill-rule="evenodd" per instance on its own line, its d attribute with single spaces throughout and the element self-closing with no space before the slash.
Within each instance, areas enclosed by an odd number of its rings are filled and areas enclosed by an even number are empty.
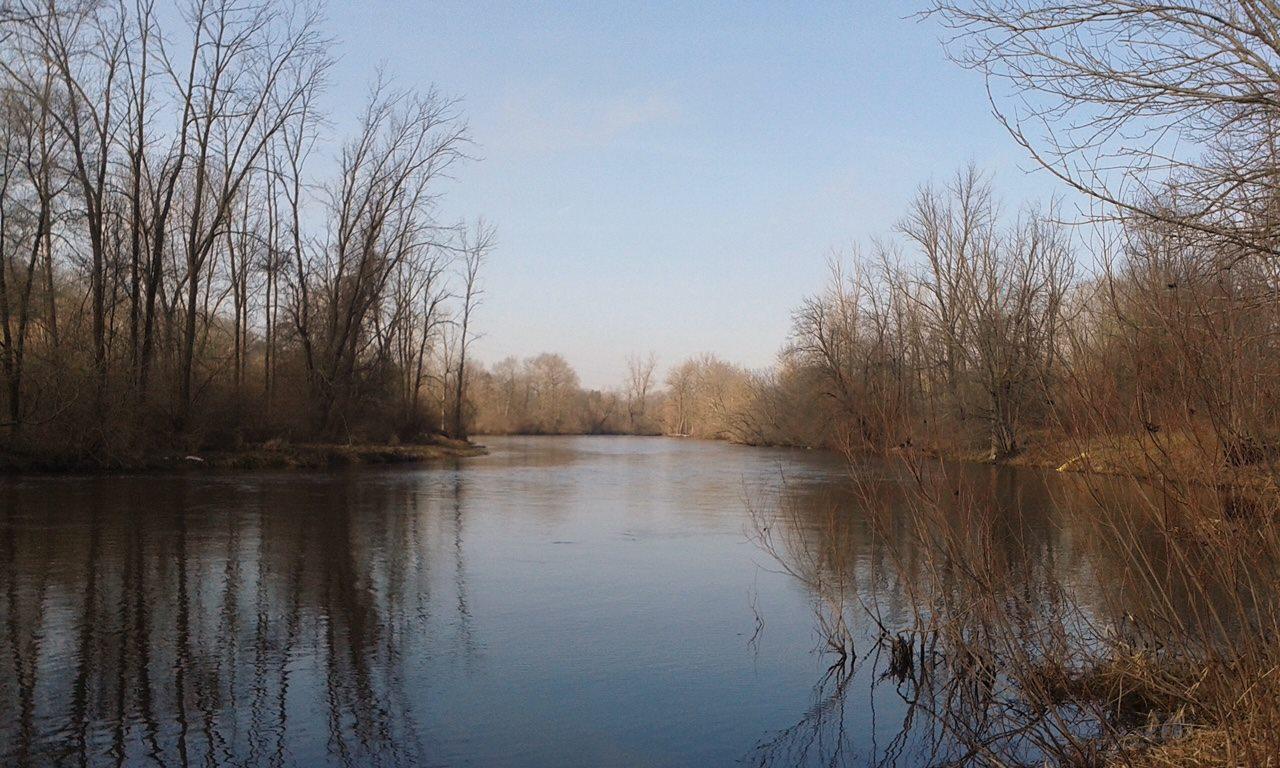
<svg viewBox="0 0 1280 768">
<path fill-rule="evenodd" d="M 996 471 L 988 483 L 900 457 L 905 488 L 854 474 L 884 572 L 858 571 L 838 512 L 791 520 L 782 532 L 774 525 L 762 540 L 820 596 L 818 626 L 832 648 L 849 641 L 854 611 L 911 644 L 902 655 L 919 659 L 913 707 L 961 745 L 955 764 L 1277 764 L 1272 492 L 1251 490 L 1242 511 L 1187 476 L 1085 472 L 1053 484 L 1073 489 L 1053 499 L 1075 538 L 1071 576 L 1084 580 L 1068 584 Z M 881 609 L 886 584 L 909 604 L 897 614 L 905 623 Z"/>
</svg>

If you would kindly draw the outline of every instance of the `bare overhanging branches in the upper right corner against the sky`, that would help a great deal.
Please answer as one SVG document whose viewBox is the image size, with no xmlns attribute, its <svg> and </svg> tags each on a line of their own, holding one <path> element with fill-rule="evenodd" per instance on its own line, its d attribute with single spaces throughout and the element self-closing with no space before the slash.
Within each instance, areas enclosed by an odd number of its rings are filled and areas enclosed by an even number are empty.
<svg viewBox="0 0 1280 768">
<path fill-rule="evenodd" d="M 1012 137 L 1103 215 L 1280 253 L 1280 8 L 1267 0 L 936 0 Z M 1174 205 L 1170 196 L 1176 197 Z"/>
</svg>

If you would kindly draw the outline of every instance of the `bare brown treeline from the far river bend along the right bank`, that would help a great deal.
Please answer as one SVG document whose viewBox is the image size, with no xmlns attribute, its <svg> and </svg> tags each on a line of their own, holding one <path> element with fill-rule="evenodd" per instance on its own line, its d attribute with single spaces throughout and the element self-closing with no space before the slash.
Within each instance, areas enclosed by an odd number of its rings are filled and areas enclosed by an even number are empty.
<svg viewBox="0 0 1280 768">
<path fill-rule="evenodd" d="M 632 360 L 585 392 L 558 356 L 476 374 L 486 433 L 668 434 L 1201 472 L 1280 448 L 1280 274 L 1133 218 L 1080 256 L 1053 207 L 1005 214 L 974 168 L 925 184 L 883 239 L 833 262 L 778 364 Z M 1133 468 L 1132 466 L 1128 468 Z"/>
</svg>

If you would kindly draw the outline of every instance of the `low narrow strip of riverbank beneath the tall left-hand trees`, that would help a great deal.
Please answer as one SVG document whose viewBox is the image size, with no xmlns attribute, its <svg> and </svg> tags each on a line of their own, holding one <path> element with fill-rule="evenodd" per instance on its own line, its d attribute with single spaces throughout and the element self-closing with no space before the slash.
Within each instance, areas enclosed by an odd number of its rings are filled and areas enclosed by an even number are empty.
<svg viewBox="0 0 1280 768">
<path fill-rule="evenodd" d="M 484 456 L 484 445 L 433 436 L 421 443 L 288 443 L 269 440 L 221 451 L 157 451 L 79 457 L 0 452 L 0 474 L 123 472 L 152 470 L 319 470 L 358 465 L 420 463 Z"/>
</svg>

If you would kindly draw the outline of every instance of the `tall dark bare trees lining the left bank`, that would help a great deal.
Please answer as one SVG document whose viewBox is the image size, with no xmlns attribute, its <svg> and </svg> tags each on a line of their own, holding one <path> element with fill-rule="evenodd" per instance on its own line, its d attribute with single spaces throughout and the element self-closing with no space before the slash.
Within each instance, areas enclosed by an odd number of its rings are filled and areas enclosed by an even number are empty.
<svg viewBox="0 0 1280 768">
<path fill-rule="evenodd" d="M 291 0 L 0 5 L 5 451 L 465 431 L 465 122 L 379 76 L 330 136 L 332 44 Z"/>
</svg>

